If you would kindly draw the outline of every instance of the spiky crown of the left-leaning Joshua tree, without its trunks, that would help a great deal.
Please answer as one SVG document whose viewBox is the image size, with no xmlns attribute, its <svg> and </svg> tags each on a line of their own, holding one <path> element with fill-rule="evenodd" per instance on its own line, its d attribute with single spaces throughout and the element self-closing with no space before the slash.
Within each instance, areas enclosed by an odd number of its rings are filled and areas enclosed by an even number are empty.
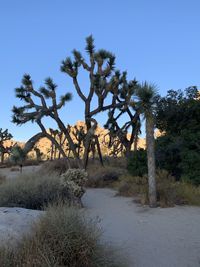
<svg viewBox="0 0 200 267">
<path fill-rule="evenodd" d="M 24 124 L 28 121 L 41 121 L 44 116 L 54 116 L 65 103 L 71 100 L 71 94 L 66 93 L 57 101 L 57 85 L 51 78 L 45 79 L 45 84 L 38 90 L 34 89 L 31 76 L 25 74 L 22 85 L 15 89 L 16 97 L 24 102 L 20 107 L 12 109 L 12 121 L 16 124 Z"/>
</svg>

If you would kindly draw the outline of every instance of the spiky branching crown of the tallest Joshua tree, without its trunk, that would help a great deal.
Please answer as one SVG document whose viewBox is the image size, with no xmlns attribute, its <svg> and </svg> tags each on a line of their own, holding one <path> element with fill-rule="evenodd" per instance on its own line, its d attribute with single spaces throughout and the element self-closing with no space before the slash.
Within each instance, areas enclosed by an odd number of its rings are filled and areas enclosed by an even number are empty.
<svg viewBox="0 0 200 267">
<path fill-rule="evenodd" d="M 62 61 L 61 71 L 67 73 L 72 79 L 75 89 L 84 102 L 91 102 L 93 96 L 98 98 L 98 106 L 90 111 L 87 116 L 92 117 L 98 112 L 108 110 L 113 107 L 122 107 L 127 104 L 135 90 L 136 81 L 127 81 L 127 73 L 115 70 L 115 55 L 105 49 L 96 50 L 94 38 L 86 38 L 86 48 L 89 60 L 83 57 L 81 52 L 73 50 L 73 58 L 67 57 Z M 78 82 L 80 69 L 89 73 L 90 87 L 88 93 L 83 90 Z M 105 99 L 111 95 L 109 105 L 105 106 Z"/>
</svg>

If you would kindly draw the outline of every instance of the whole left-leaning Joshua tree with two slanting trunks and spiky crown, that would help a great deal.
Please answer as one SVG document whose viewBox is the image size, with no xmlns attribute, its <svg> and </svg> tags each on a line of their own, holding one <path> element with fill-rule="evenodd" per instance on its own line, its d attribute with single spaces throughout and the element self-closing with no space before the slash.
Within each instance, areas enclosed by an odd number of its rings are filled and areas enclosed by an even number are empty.
<svg viewBox="0 0 200 267">
<path fill-rule="evenodd" d="M 43 135 L 54 143 L 55 147 L 61 152 L 63 157 L 66 157 L 63 148 L 56 139 L 46 131 L 43 124 L 42 120 L 44 117 L 48 116 L 52 118 L 57 123 L 60 131 L 65 134 L 74 157 L 78 158 L 73 140 L 71 139 L 65 124 L 59 117 L 59 110 L 71 99 L 71 94 L 66 93 L 61 96 L 58 101 L 56 89 L 57 85 L 53 80 L 47 78 L 45 80 L 45 86 L 36 90 L 33 87 L 30 75 L 25 74 L 22 79 L 21 87 L 15 89 L 16 97 L 23 101 L 24 105 L 21 107 L 13 107 L 13 122 L 18 125 L 25 124 L 29 121 L 37 123 Z"/>
</svg>

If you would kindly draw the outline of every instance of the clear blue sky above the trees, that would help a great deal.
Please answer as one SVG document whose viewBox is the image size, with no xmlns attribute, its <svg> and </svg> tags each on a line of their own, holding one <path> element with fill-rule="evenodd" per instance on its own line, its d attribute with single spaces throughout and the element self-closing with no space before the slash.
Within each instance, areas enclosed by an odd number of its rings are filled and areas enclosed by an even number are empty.
<svg viewBox="0 0 200 267">
<path fill-rule="evenodd" d="M 161 94 L 199 86 L 199 14 L 199 0 L 0 0 L 0 127 L 18 140 L 39 131 L 10 122 L 19 103 L 14 88 L 29 73 L 36 87 L 52 76 L 58 92 L 74 92 L 60 62 L 73 48 L 83 51 L 91 33 L 97 48 L 115 53 L 117 68 L 130 79 L 155 82 Z M 62 116 L 70 124 L 83 119 L 75 92 Z M 105 117 L 99 118 L 103 124 Z"/>
</svg>

